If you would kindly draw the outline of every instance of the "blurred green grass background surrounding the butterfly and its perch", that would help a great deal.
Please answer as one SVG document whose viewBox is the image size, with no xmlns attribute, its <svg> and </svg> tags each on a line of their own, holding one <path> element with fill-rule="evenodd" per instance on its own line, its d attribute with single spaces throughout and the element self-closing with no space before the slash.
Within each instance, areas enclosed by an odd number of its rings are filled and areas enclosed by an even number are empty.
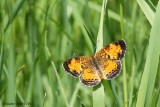
<svg viewBox="0 0 160 107">
<path fill-rule="evenodd" d="M 92 87 L 68 75 L 62 63 L 94 55 L 102 2 L 0 1 L 0 107 L 16 102 L 32 107 L 94 106 L 92 97 L 101 96 L 93 96 Z M 158 0 L 107 2 L 103 46 L 124 39 L 127 51 L 121 74 L 111 80 L 114 88 L 102 81 L 106 107 L 160 105 L 157 6 Z"/>
</svg>

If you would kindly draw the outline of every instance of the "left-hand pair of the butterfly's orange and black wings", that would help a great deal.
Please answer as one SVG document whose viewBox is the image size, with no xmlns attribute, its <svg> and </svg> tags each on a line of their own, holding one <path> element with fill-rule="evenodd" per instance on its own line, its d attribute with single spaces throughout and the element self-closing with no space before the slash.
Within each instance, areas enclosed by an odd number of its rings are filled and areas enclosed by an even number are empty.
<svg viewBox="0 0 160 107">
<path fill-rule="evenodd" d="M 75 57 L 63 63 L 64 69 L 74 77 L 79 77 L 86 86 L 94 86 L 100 83 L 101 79 L 97 74 L 92 57 Z"/>
</svg>

